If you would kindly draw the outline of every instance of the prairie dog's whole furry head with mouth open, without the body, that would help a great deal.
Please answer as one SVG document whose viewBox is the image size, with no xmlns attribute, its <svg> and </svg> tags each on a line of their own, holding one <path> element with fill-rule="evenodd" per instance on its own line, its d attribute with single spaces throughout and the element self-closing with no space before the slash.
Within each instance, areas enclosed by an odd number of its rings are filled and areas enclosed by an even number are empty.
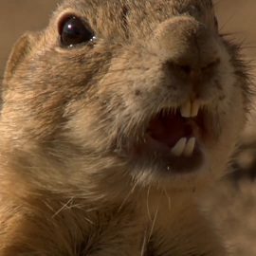
<svg viewBox="0 0 256 256">
<path fill-rule="evenodd" d="M 59 192 L 206 183 L 246 120 L 238 50 L 211 1 L 64 1 L 10 56 L 2 164 Z"/>
</svg>

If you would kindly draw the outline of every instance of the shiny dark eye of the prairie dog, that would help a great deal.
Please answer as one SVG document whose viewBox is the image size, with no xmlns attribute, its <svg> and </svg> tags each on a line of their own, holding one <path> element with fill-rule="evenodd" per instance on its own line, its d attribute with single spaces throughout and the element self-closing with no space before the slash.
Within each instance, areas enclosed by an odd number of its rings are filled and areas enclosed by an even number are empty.
<svg viewBox="0 0 256 256">
<path fill-rule="evenodd" d="M 62 46 L 75 46 L 88 43 L 94 39 L 94 33 L 86 27 L 82 20 L 72 16 L 64 19 L 59 25 Z"/>
</svg>

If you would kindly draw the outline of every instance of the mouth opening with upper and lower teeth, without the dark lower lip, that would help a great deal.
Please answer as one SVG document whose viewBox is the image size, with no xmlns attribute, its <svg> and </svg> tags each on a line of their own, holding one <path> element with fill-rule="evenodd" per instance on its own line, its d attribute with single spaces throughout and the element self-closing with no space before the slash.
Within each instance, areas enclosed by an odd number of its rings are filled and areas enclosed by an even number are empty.
<svg viewBox="0 0 256 256">
<path fill-rule="evenodd" d="M 147 134 L 170 148 L 175 156 L 191 156 L 196 139 L 206 133 L 204 113 L 197 101 L 186 101 L 180 108 L 162 109 L 150 120 Z"/>
</svg>

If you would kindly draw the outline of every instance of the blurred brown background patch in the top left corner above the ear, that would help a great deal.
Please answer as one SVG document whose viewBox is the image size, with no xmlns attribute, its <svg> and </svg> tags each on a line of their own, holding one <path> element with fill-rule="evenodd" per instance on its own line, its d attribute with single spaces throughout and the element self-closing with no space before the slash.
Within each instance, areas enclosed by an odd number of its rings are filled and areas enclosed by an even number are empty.
<svg viewBox="0 0 256 256">
<path fill-rule="evenodd" d="M 57 0 L 0 0 L 0 77 L 3 75 L 9 51 L 26 30 L 46 27 Z"/>
</svg>

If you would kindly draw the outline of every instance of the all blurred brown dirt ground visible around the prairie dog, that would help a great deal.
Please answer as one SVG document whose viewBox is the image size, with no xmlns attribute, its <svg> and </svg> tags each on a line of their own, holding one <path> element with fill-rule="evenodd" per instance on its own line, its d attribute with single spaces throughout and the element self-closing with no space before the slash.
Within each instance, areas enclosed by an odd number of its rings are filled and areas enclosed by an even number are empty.
<svg viewBox="0 0 256 256">
<path fill-rule="evenodd" d="M 138 0 L 139 1 L 139 0 Z M 155 0 L 156 1 L 156 0 Z M 0 0 L 0 78 L 3 76 L 12 44 L 26 30 L 46 27 L 57 0 Z M 243 43 L 245 58 L 256 59 L 256 0 L 215 0 L 215 9 L 222 32 L 229 32 Z M 256 74 L 256 72 L 255 72 Z M 254 117 L 254 116 L 253 116 Z M 255 115 L 256 117 L 256 115 Z M 250 179 L 239 178 L 216 186 L 206 201 L 211 218 L 230 245 L 231 255 L 256 255 L 256 118 L 243 136 L 244 150 L 237 167 L 243 167 Z M 255 171 L 254 171 L 255 164 Z M 240 168 L 241 169 L 241 168 Z M 243 176 L 243 178 L 241 178 Z"/>
</svg>

